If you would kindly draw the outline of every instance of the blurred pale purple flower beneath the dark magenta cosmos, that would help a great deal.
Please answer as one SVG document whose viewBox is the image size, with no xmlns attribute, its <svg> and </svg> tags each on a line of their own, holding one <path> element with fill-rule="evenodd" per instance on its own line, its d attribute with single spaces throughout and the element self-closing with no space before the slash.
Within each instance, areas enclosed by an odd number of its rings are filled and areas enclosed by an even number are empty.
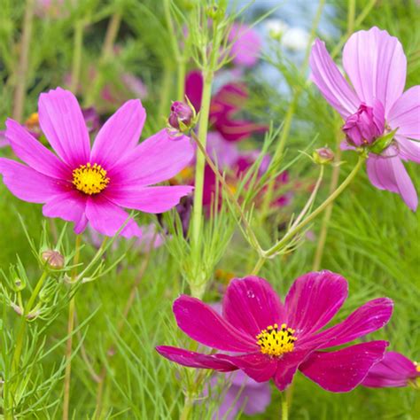
<svg viewBox="0 0 420 420">
<path fill-rule="evenodd" d="M 220 385 L 221 377 L 220 374 L 211 377 L 208 388 Z M 222 393 L 222 401 L 214 419 L 235 420 L 241 410 L 246 416 L 253 416 L 264 413 L 268 408 L 271 401 L 268 383 L 260 384 L 241 370 L 227 374 L 225 380 L 229 382 L 228 389 Z M 210 394 L 210 389 L 207 393 Z"/>
</svg>

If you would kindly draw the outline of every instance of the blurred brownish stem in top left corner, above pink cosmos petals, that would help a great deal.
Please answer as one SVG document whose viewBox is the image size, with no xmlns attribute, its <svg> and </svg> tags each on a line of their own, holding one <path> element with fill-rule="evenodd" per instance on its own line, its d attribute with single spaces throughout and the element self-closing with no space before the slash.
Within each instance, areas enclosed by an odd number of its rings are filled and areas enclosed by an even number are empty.
<svg viewBox="0 0 420 420">
<path fill-rule="evenodd" d="M 12 116 L 14 120 L 21 121 L 23 115 L 23 105 L 27 92 L 27 68 L 29 45 L 32 36 L 32 26 L 34 20 L 35 0 L 27 0 L 25 6 L 25 17 L 23 20 L 22 38 L 20 41 L 19 65 L 17 70 L 16 89 L 13 98 Z"/>
</svg>

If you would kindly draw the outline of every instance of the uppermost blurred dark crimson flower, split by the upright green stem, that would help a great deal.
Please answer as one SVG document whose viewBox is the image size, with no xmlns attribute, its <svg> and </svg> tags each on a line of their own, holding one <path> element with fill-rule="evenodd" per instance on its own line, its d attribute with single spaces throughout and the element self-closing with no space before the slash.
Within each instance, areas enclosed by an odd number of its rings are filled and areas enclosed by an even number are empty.
<svg viewBox="0 0 420 420">
<path fill-rule="evenodd" d="M 201 107 L 203 77 L 198 71 L 191 71 L 185 79 L 185 96 L 198 112 Z M 239 120 L 235 114 L 244 108 L 248 92 L 243 83 L 229 83 L 222 86 L 212 98 L 209 122 L 226 140 L 245 140 L 253 133 L 263 133 L 268 127 L 253 121 Z"/>
</svg>

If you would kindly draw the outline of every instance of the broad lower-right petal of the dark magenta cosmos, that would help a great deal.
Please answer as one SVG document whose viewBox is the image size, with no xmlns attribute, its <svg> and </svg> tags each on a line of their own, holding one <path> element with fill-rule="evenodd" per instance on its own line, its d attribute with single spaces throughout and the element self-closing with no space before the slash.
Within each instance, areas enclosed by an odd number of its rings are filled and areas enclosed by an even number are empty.
<svg viewBox="0 0 420 420">
<path fill-rule="evenodd" d="M 299 370 L 331 393 L 347 393 L 359 385 L 385 353 L 386 341 L 369 341 L 338 350 L 315 352 Z"/>
</svg>

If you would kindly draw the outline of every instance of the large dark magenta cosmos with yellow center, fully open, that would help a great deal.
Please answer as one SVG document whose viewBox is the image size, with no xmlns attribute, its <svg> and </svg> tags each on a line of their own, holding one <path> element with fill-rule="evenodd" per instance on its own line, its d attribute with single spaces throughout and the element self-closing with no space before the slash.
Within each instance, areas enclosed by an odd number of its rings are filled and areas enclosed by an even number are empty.
<svg viewBox="0 0 420 420">
<path fill-rule="evenodd" d="M 347 392 L 383 358 L 388 343 L 367 341 L 324 350 L 382 328 L 392 315 L 393 301 L 370 300 L 343 322 L 322 330 L 346 297 L 346 279 L 329 271 L 299 277 L 284 304 L 263 278 L 236 278 L 223 298 L 222 316 L 190 296 L 174 303 L 176 322 L 183 332 L 205 346 L 234 354 L 200 354 L 172 346 L 157 350 L 191 368 L 240 369 L 256 382 L 274 379 L 281 391 L 299 369 L 327 391 Z"/>
</svg>

